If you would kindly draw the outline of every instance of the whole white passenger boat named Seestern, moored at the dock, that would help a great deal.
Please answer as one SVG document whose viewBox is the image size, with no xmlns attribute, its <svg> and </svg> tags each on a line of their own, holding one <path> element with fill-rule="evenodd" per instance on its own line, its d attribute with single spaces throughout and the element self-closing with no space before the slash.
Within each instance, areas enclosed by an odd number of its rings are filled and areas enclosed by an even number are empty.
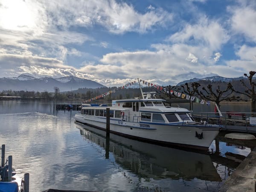
<svg viewBox="0 0 256 192">
<path fill-rule="evenodd" d="M 218 135 L 221 125 L 195 122 L 189 110 L 165 106 L 163 99 L 151 98 L 112 101 L 110 132 L 131 139 L 159 145 L 178 145 L 207 150 Z M 106 130 L 106 106 L 83 105 L 75 115 L 76 122 Z"/>
</svg>

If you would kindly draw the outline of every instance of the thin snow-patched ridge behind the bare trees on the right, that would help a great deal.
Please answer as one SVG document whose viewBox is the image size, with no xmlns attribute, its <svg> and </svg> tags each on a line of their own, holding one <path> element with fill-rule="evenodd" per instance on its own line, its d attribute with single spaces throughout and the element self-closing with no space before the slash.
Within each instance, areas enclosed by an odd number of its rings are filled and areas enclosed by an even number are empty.
<svg viewBox="0 0 256 192">
<path fill-rule="evenodd" d="M 177 86 L 180 86 L 180 85 L 185 84 L 185 83 L 198 82 L 198 81 L 201 81 L 201 80 L 211 81 L 211 82 L 218 82 L 218 81 L 231 82 L 231 81 L 239 81 L 241 79 L 247 79 L 247 78 L 245 78 L 245 77 L 226 78 L 226 77 L 221 77 L 221 76 L 205 77 L 205 78 L 201 78 L 201 79 L 193 78 L 193 79 L 189 79 L 189 80 L 186 80 L 186 81 L 182 81 L 182 82 L 178 83 Z"/>
</svg>

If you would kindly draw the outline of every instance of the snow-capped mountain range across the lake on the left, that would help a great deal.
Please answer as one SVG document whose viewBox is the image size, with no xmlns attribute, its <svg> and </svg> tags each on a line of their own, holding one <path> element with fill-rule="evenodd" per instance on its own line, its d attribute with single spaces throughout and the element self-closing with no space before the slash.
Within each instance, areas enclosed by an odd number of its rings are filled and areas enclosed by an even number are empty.
<svg viewBox="0 0 256 192">
<path fill-rule="evenodd" d="M 53 79 L 51 77 L 35 78 L 27 75 L 20 75 L 12 78 L 0 78 L 0 90 L 27 90 L 39 92 L 54 92 L 54 87 L 60 91 L 77 90 L 79 88 L 105 87 L 95 81 L 81 79 L 74 76 Z"/>
</svg>

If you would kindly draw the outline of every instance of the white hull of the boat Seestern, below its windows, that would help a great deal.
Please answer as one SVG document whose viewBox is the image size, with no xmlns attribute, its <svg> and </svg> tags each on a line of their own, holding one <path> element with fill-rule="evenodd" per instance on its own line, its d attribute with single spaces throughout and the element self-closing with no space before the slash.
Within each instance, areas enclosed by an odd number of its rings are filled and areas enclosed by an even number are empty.
<svg viewBox="0 0 256 192">
<path fill-rule="evenodd" d="M 106 118 L 75 115 L 76 122 L 106 130 Z M 212 141 L 218 135 L 220 126 L 202 125 L 161 125 L 145 122 L 126 122 L 110 119 L 110 132 L 143 142 L 164 146 L 179 146 L 208 150 Z M 198 137 L 197 135 L 201 135 Z"/>
</svg>

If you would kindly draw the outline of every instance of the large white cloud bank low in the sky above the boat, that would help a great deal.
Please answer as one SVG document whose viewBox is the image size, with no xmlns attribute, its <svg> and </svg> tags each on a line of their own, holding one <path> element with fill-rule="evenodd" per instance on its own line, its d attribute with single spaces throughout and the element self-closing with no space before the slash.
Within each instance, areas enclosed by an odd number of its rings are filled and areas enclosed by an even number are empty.
<svg viewBox="0 0 256 192">
<path fill-rule="evenodd" d="M 204 76 L 210 74 L 202 62 L 198 62 L 196 67 L 190 62 L 195 62 L 197 58 L 190 54 L 190 59 L 186 60 L 189 55 L 189 49 L 200 51 L 200 48 L 189 47 L 187 45 L 175 44 L 173 46 L 156 44 L 153 46 L 157 50 L 153 51 L 137 51 L 137 52 L 120 52 L 109 53 L 103 56 L 102 62 L 105 64 L 115 64 L 119 66 L 119 71 L 125 78 L 148 79 L 148 77 L 166 79 L 172 83 L 183 81 L 181 76 L 184 73 L 194 72 L 195 76 Z M 204 52 L 204 50 L 202 50 Z M 214 62 L 212 62 L 214 64 Z M 210 62 L 209 66 L 212 65 Z M 101 66 L 105 68 L 105 66 Z M 186 69 L 184 71 L 183 69 Z M 200 74 L 200 75 L 199 75 Z M 112 76 L 112 74 L 111 74 Z M 113 75 L 116 76 L 116 75 Z M 194 77 L 195 77 L 194 76 Z M 178 79 L 176 79 L 178 77 Z M 161 81 L 163 83 L 163 80 Z"/>
</svg>

